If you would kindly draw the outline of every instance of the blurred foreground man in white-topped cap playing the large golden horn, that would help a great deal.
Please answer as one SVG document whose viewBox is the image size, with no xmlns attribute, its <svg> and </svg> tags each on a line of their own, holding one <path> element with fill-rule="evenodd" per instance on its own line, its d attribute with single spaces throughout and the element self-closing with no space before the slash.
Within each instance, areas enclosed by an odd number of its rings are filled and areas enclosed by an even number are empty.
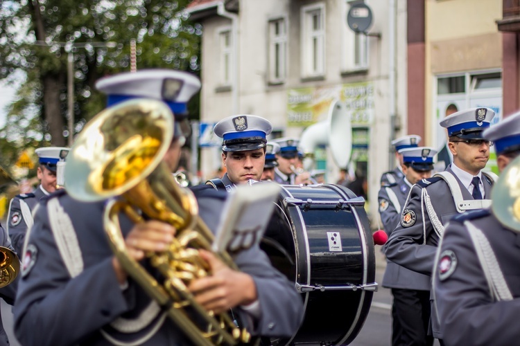
<svg viewBox="0 0 520 346">
<path fill-rule="evenodd" d="M 186 133 L 187 102 L 200 89 L 198 78 L 180 71 L 141 70 L 103 78 L 96 87 L 107 93 L 109 106 L 148 98 L 171 108 L 175 134 L 166 161 L 173 170 Z M 112 253 L 103 234 L 105 201 L 80 202 L 66 190 L 42 202 L 35 214 L 14 309 L 21 343 L 191 345 L 184 330 L 166 318 Z M 197 199 L 200 217 L 215 230 L 227 194 L 211 191 Z M 119 219 L 128 255 L 144 266 L 149 267 L 146 252 L 164 251 L 175 237 L 170 224 L 132 224 L 125 215 Z M 210 275 L 191 281 L 188 289 L 204 309 L 225 313 L 234 308 L 241 327 L 253 336 L 288 337 L 297 330 L 303 315 L 300 298 L 258 247 L 236 255 L 241 271 L 211 252 L 199 254 Z"/>
</svg>

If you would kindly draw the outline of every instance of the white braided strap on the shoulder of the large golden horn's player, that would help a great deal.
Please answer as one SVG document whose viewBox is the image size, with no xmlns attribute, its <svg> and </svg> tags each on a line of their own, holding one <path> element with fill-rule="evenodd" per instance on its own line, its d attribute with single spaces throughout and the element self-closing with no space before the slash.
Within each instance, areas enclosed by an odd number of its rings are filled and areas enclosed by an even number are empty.
<svg viewBox="0 0 520 346">
<path fill-rule="evenodd" d="M 83 255 L 71 218 L 57 198 L 49 199 L 47 210 L 58 251 L 71 277 L 76 277 L 83 271 Z"/>
</svg>

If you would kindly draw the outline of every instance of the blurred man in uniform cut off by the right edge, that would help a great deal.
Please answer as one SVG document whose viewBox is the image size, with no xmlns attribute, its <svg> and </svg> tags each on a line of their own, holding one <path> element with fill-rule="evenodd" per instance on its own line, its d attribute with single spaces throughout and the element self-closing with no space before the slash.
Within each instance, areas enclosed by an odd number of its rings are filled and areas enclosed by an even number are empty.
<svg viewBox="0 0 520 346">
<path fill-rule="evenodd" d="M 518 195 L 514 195 L 520 185 L 518 173 L 503 175 L 505 168 L 520 167 L 520 113 L 489 127 L 483 136 L 494 142 L 501 172 L 493 189 L 501 183 L 512 184 L 504 186 L 518 203 Z M 492 208 L 513 210 L 512 205 L 501 203 L 501 197 L 506 196 L 494 197 Z M 516 215 L 518 225 L 518 209 L 514 212 L 510 217 Z M 433 291 L 445 345 L 518 343 L 520 330 L 510 325 L 520 312 L 520 228 L 507 224 L 504 215 L 497 217 L 487 208 L 451 219 L 444 230 L 435 261 Z"/>
</svg>

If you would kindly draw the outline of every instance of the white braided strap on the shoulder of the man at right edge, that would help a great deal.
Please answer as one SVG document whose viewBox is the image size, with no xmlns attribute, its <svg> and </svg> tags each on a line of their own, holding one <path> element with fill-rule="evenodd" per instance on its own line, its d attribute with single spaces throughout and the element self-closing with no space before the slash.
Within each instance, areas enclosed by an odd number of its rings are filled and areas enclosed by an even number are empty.
<svg viewBox="0 0 520 346">
<path fill-rule="evenodd" d="M 482 266 L 487 284 L 489 286 L 489 294 L 495 301 L 512 300 L 513 296 L 505 282 L 504 275 L 500 268 L 499 262 L 496 260 L 495 253 L 489 244 L 489 240 L 482 230 L 477 228 L 469 221 L 464 221 L 469 237 L 473 242 L 478 261 Z"/>
</svg>

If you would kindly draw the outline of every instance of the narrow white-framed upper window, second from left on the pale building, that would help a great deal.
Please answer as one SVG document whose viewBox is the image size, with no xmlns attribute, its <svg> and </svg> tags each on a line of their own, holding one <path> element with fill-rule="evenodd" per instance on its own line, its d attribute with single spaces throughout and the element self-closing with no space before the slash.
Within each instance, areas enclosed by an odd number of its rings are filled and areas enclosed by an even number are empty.
<svg viewBox="0 0 520 346">
<path fill-rule="evenodd" d="M 284 82 L 287 75 L 286 19 L 269 21 L 269 82 Z"/>
</svg>

